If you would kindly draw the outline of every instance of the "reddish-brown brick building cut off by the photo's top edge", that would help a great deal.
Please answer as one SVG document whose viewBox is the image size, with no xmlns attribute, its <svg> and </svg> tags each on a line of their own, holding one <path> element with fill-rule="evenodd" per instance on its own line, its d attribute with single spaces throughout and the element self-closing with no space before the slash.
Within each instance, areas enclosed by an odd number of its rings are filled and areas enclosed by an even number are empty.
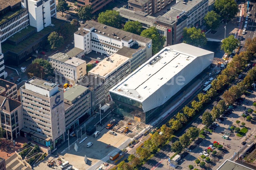
<svg viewBox="0 0 256 170">
<path fill-rule="evenodd" d="M 77 0 L 77 6 L 91 5 L 93 9 L 92 13 L 95 13 L 112 1 L 113 0 Z"/>
</svg>

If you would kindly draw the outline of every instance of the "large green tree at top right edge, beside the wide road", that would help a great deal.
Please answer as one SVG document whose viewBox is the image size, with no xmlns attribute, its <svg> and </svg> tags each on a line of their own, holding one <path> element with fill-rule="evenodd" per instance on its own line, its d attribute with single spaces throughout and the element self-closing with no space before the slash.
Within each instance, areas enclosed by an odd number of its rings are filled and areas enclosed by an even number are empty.
<svg viewBox="0 0 256 170">
<path fill-rule="evenodd" d="M 239 12 L 238 5 L 234 0 L 216 0 L 214 3 L 215 10 L 224 19 L 232 19 Z"/>
</svg>

